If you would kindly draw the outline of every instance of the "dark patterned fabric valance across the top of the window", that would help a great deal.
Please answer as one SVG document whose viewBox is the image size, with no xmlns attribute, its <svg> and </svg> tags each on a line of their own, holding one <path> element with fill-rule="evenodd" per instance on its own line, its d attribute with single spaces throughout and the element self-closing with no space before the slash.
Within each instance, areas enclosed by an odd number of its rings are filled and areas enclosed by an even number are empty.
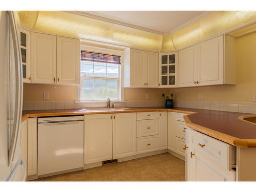
<svg viewBox="0 0 256 192">
<path fill-rule="evenodd" d="M 81 60 L 121 64 L 120 56 L 81 51 Z"/>
</svg>

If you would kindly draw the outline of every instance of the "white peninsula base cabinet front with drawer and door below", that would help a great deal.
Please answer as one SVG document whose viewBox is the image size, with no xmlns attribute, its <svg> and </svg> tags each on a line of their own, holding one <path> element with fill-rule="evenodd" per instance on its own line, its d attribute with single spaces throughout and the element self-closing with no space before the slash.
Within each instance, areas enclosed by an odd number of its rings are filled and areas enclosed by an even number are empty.
<svg viewBox="0 0 256 192">
<path fill-rule="evenodd" d="M 186 181 L 236 181 L 233 146 L 191 129 L 186 132 Z"/>
</svg>

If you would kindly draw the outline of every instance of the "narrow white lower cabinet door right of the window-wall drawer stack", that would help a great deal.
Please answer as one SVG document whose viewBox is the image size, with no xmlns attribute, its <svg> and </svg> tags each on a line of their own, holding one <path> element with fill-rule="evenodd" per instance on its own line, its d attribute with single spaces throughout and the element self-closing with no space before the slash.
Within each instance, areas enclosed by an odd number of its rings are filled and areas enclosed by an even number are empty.
<svg viewBox="0 0 256 192">
<path fill-rule="evenodd" d="M 167 129 L 168 129 L 168 112 L 160 112 L 159 119 L 159 135 L 160 135 L 160 150 L 167 149 Z"/>
</svg>

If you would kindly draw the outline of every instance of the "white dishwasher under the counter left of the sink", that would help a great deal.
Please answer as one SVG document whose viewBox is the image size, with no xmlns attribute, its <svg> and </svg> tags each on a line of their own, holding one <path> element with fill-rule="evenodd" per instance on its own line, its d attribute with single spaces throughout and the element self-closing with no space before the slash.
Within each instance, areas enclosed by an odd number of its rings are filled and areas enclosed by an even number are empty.
<svg viewBox="0 0 256 192">
<path fill-rule="evenodd" d="M 83 119 L 38 118 L 38 176 L 83 167 Z"/>
</svg>

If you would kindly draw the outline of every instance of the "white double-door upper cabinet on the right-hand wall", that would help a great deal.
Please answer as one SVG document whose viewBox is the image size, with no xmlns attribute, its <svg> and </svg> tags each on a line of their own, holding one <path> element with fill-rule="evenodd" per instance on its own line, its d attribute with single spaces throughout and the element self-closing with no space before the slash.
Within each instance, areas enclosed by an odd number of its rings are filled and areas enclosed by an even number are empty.
<svg viewBox="0 0 256 192">
<path fill-rule="evenodd" d="M 179 87 L 235 84 L 236 39 L 220 36 L 179 52 Z"/>
</svg>

